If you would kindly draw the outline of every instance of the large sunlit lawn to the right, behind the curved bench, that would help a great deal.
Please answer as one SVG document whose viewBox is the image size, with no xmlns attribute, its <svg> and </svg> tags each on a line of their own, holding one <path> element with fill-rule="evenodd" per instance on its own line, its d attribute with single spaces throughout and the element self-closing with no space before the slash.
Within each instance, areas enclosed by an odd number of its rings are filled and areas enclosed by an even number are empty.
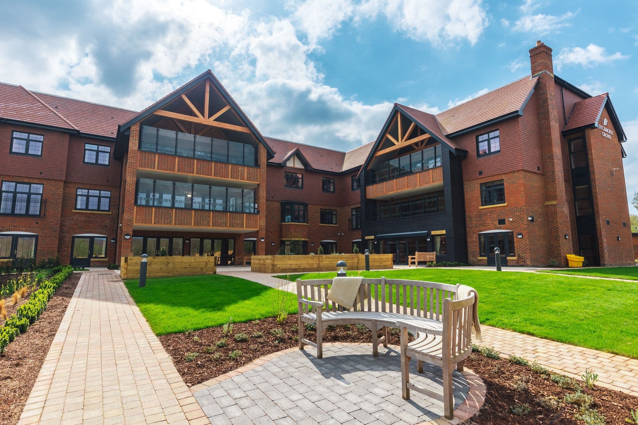
<svg viewBox="0 0 638 425">
<path fill-rule="evenodd" d="M 483 324 L 638 358 L 638 282 L 426 268 L 361 274 L 470 285 L 479 292 L 479 317 Z M 304 273 L 291 275 L 290 279 L 335 275 Z M 348 275 L 357 272 L 350 271 Z"/>
</svg>

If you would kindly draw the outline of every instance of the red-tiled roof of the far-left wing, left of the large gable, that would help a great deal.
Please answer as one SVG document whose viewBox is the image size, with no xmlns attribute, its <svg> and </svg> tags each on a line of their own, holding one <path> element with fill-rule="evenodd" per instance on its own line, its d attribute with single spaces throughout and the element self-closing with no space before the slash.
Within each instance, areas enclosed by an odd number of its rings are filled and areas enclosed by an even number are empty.
<svg viewBox="0 0 638 425">
<path fill-rule="evenodd" d="M 115 138 L 117 124 L 135 112 L 0 83 L 0 119 L 69 133 Z"/>
</svg>

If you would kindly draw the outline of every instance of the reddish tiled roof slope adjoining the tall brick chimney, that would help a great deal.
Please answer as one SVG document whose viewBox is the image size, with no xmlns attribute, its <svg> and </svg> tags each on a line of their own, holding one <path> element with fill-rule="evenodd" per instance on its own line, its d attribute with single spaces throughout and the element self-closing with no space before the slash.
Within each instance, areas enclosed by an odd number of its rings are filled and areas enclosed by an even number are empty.
<svg viewBox="0 0 638 425">
<path fill-rule="evenodd" d="M 538 78 L 530 75 L 499 87 L 486 94 L 436 114 L 436 120 L 446 136 L 471 131 L 480 124 L 508 116 L 522 115 Z"/>
</svg>

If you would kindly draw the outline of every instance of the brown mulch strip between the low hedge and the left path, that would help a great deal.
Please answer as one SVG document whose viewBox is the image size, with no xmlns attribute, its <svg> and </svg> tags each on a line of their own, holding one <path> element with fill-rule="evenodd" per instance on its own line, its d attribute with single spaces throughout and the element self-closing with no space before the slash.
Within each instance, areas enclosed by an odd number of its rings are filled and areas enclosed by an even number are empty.
<svg viewBox="0 0 638 425">
<path fill-rule="evenodd" d="M 80 273 L 65 280 L 47 310 L 0 355 L 0 424 L 18 422 L 79 280 Z"/>
</svg>

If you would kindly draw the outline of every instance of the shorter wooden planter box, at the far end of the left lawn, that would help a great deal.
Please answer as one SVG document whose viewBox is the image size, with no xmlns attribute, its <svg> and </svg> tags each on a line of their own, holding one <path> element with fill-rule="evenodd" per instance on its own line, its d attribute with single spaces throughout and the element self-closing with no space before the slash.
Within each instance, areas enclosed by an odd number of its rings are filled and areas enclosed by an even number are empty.
<svg viewBox="0 0 638 425">
<path fill-rule="evenodd" d="M 142 257 L 122 257 L 120 276 L 122 279 L 140 277 Z M 217 257 L 149 257 L 146 277 L 214 275 Z"/>
</svg>

